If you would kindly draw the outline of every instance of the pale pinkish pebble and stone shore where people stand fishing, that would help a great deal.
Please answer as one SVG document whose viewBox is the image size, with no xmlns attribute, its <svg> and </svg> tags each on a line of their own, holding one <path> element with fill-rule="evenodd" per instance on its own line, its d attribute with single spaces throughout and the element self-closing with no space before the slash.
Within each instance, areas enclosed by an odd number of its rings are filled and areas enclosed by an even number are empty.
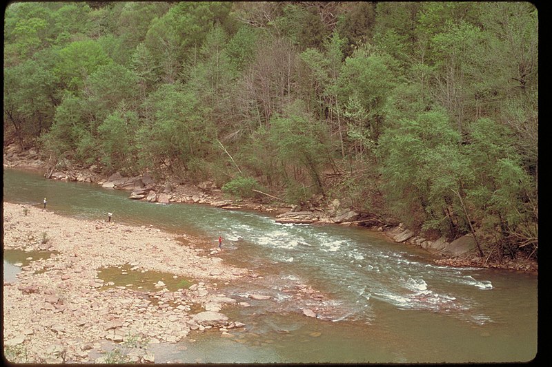
<svg viewBox="0 0 552 367">
<path fill-rule="evenodd" d="M 102 357 L 92 357 L 104 352 L 101 342 L 144 337 L 174 343 L 192 330 L 220 328 L 224 334 L 243 327 L 221 308 L 248 304 L 217 293 L 217 282 L 239 279 L 248 270 L 223 264 L 216 251 L 195 248 L 193 239 L 176 237 L 152 227 L 66 218 L 3 202 L 4 249 L 54 251 L 23 266 L 17 282 L 3 284 L 4 355 L 19 348 L 30 363 L 101 363 Z M 160 283 L 158 291 L 144 292 L 108 287 L 100 279 L 99 268 L 124 265 L 173 273 L 193 285 L 168 291 Z M 146 351 L 131 357 L 155 361 Z"/>
</svg>

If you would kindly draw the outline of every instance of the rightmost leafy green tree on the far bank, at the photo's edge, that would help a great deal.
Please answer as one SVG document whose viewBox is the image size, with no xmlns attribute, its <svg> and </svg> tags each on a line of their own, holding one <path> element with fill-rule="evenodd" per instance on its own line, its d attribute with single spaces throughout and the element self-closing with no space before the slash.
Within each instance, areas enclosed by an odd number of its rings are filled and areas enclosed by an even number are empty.
<svg viewBox="0 0 552 367">
<path fill-rule="evenodd" d="M 535 178 L 524 170 L 510 130 L 480 119 L 471 125 L 470 138 L 465 151 L 475 182 L 467 194 L 477 215 L 494 223 L 488 231 L 500 238 L 514 236 L 510 240 L 520 244 L 538 238 Z"/>
</svg>

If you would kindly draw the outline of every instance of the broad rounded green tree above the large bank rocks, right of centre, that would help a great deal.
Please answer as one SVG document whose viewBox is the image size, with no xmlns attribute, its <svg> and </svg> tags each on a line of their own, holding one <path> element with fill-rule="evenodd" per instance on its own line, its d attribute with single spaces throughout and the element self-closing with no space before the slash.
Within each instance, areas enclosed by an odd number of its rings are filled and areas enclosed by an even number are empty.
<svg viewBox="0 0 552 367">
<path fill-rule="evenodd" d="M 453 205 L 454 191 L 469 177 L 459 143 L 460 135 L 442 111 L 402 120 L 397 128 L 382 134 L 378 152 L 384 191 L 405 222 L 425 229 L 446 229 L 446 223 L 437 219 L 445 217 L 443 209 Z M 412 205 L 419 205 L 424 213 L 419 222 L 413 222 L 410 215 Z"/>
</svg>

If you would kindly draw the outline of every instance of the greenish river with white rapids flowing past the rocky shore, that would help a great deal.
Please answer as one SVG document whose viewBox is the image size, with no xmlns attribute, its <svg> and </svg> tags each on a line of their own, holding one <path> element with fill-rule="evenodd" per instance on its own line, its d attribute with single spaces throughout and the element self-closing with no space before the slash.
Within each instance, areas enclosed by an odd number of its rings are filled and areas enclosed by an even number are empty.
<svg viewBox="0 0 552 367">
<path fill-rule="evenodd" d="M 46 197 L 49 210 L 75 218 L 105 220 L 109 211 L 118 222 L 199 236 L 207 247 L 221 235 L 224 261 L 262 275 L 219 284 L 252 305 L 222 311 L 246 331 L 232 331 L 232 338 L 191 333 L 192 340 L 176 346 L 152 345 L 156 362 L 513 362 L 537 354 L 536 275 L 436 266 L 424 251 L 366 229 L 129 200 L 126 191 L 21 170 L 4 169 L 3 194 L 5 201 L 37 206 Z M 301 308 L 319 303 L 298 306 L 288 292 L 297 284 L 324 293 L 329 319 L 302 315 Z M 272 298 L 246 298 L 253 293 Z"/>
</svg>

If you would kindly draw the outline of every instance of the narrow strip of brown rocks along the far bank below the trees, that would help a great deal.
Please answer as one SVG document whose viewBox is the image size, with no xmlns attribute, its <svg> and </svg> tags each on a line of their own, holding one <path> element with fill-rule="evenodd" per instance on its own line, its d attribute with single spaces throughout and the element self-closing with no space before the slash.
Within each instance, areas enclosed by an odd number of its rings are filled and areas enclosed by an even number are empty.
<svg viewBox="0 0 552 367">
<path fill-rule="evenodd" d="M 8 168 L 43 171 L 47 166 L 46 162 L 40 159 L 37 151 L 34 151 L 34 149 L 19 151 L 15 144 L 4 147 L 3 158 L 3 167 Z M 123 185 L 121 187 L 117 187 L 116 185 L 106 186 L 106 182 L 110 183 L 109 181 L 113 177 L 106 178 L 99 171 L 95 171 L 93 166 L 89 168 L 67 167 L 63 170 L 52 171 L 50 172 L 50 178 L 55 180 L 92 182 L 102 187 L 131 191 L 130 198 L 135 200 L 166 203 L 197 203 L 221 209 L 256 211 L 275 216 L 277 222 L 282 223 L 357 226 L 369 231 L 384 233 L 386 238 L 397 244 L 412 245 L 424 249 L 430 255 L 437 255 L 440 258 L 433 261 L 438 265 L 455 267 L 475 266 L 485 269 L 538 273 L 538 262 L 535 260 L 520 258 L 519 256 L 515 259 L 491 257 L 492 251 L 481 257 L 475 253 L 475 243 L 473 242 L 472 235 L 464 235 L 462 238 L 451 243 L 446 242 L 444 238 L 428 240 L 415 235 L 415 233 L 403 227 L 402 223 L 394 222 L 393 220 L 391 222 L 382 222 L 380 218 L 358 218 L 358 213 L 351 211 L 351 209 L 339 211 L 339 204 L 337 207 L 331 204 L 325 209 L 311 207 L 307 211 L 300 211 L 300 208 L 291 205 L 266 205 L 244 199 L 227 200 L 224 199 L 220 189 L 216 189 L 214 186 L 208 187 L 208 182 L 204 183 L 207 186 L 179 182 L 175 185 L 168 185 L 170 189 L 168 189 L 167 185 L 164 188 L 159 188 L 159 185 L 156 185 L 155 182 L 152 185 L 145 185 L 145 189 L 137 189 L 136 187 L 132 187 L 132 185 L 128 185 L 127 187 L 122 187 Z M 113 181 L 115 182 L 116 180 Z M 210 183 L 212 184 L 213 182 Z M 154 191 L 151 189 L 154 189 Z M 156 194 L 153 198 L 151 196 L 148 197 L 148 195 L 151 195 L 152 192 L 155 193 L 155 191 L 159 191 L 159 194 Z"/>
</svg>

